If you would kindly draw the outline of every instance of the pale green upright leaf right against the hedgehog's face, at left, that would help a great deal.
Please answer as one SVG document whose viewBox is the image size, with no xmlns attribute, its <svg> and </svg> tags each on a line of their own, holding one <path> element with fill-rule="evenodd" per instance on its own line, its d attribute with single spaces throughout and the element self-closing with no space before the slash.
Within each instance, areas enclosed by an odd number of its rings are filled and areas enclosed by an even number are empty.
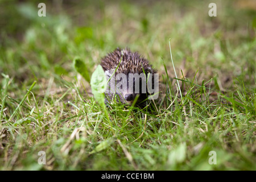
<svg viewBox="0 0 256 182">
<path fill-rule="evenodd" d="M 105 72 L 101 65 L 98 65 L 96 70 L 92 73 L 92 78 L 90 80 L 90 86 L 92 88 L 92 93 L 96 101 L 105 109 L 105 94 L 108 85 L 106 80 Z"/>
</svg>

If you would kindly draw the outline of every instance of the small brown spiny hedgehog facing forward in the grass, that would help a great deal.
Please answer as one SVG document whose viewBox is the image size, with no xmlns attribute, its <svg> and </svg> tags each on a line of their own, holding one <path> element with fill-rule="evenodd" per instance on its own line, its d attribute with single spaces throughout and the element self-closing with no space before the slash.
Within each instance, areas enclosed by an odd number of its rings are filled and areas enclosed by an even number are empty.
<svg viewBox="0 0 256 182">
<path fill-rule="evenodd" d="M 109 80 L 105 102 L 117 97 L 125 105 L 132 105 L 136 100 L 134 105 L 146 106 L 158 96 L 156 69 L 138 52 L 117 48 L 102 58 L 101 67 Z"/>
</svg>

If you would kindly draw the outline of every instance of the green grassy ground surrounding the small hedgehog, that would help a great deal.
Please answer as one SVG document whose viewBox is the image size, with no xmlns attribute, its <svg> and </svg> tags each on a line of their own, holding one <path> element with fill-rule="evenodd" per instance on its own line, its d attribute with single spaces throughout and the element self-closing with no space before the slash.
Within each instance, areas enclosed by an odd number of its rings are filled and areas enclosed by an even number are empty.
<svg viewBox="0 0 256 182">
<path fill-rule="evenodd" d="M 255 170 L 256 14 L 244 2 L 216 1 L 209 17 L 200 1 L 46 1 L 39 17 L 37 1 L 1 1 L 0 169 Z M 106 115 L 73 60 L 92 75 L 126 46 L 166 90 Z"/>
</svg>

